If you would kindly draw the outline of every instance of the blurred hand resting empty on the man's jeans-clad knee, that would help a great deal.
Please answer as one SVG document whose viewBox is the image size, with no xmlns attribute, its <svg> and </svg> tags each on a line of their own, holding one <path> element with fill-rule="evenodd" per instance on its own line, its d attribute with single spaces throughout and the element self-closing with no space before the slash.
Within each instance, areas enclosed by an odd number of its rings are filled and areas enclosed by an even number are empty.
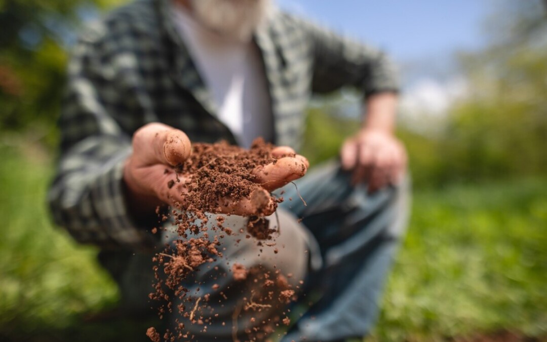
<svg viewBox="0 0 547 342">
<path fill-rule="evenodd" d="M 375 192 L 398 184 L 406 171 L 406 151 L 391 133 L 363 129 L 345 141 L 341 150 L 342 169 L 352 172 L 352 184 L 368 183 Z"/>
</svg>

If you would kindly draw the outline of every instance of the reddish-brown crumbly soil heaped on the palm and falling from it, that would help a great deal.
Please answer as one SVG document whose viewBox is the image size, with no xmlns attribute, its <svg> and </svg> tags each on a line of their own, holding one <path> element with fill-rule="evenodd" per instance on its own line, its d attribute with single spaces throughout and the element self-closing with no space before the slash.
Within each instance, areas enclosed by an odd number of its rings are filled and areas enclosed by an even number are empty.
<svg viewBox="0 0 547 342">
<path fill-rule="evenodd" d="M 257 183 L 253 171 L 257 167 L 276 163 L 277 159 L 271 154 L 274 148 L 274 145 L 265 143 L 261 139 L 255 140 L 249 150 L 230 146 L 226 142 L 196 143 L 192 147 L 190 157 L 183 165 L 177 166 L 174 172 L 166 170 L 166 172 L 173 172 L 174 176 L 174 179 L 166 184 L 168 188 L 177 186 L 177 184 L 183 184 L 184 187 L 182 187 L 183 200 L 172 211 L 179 239 L 166 245 L 165 251 L 154 257 L 154 262 L 157 263 L 154 266 L 155 292 L 150 293 L 149 297 L 166 303 L 160 306 L 160 318 L 176 310 L 191 324 L 202 326 L 203 332 L 207 329 L 210 319 L 203 312 L 211 311 L 205 310 L 209 300 L 208 295 L 199 298 L 191 297 L 188 295 L 189 290 L 181 284 L 190 273 L 198 270 L 204 263 L 222 257 L 222 238 L 225 235 L 234 234 L 231 228 L 224 227 L 224 216 L 217 216 L 216 222 L 208 225 L 211 216 L 207 213 L 224 212 L 229 214 L 229 208 L 246 200 L 247 208 L 250 207 L 253 211 L 253 216 L 249 217 L 247 223 L 247 237 L 253 236 L 258 240 L 271 239 L 275 230 L 269 228 L 269 222 L 264 216 L 273 213 L 282 198 L 276 199 L 266 192 Z M 294 154 L 286 156 L 294 156 Z M 162 221 L 165 220 L 166 218 L 162 219 Z M 239 233 L 243 233 L 243 231 Z M 266 245 L 273 246 L 275 244 Z M 165 276 L 161 274 L 160 270 Z M 247 270 L 245 266 L 237 263 L 232 264 L 231 270 L 235 281 L 254 282 L 261 284 L 262 288 L 274 287 L 276 289 L 276 291 L 258 292 L 252 290 L 249 299 L 244 298 L 247 303 L 242 308 L 234 308 L 237 315 L 239 315 L 238 310 L 241 309 L 263 311 L 296 299 L 287 279 L 279 273 L 275 275 L 274 282 L 272 280 L 274 276 L 269 271 L 260 273 L 255 269 Z M 251 278 L 248 279 L 249 276 Z M 213 289 L 217 290 L 218 288 L 217 284 L 213 285 Z M 265 295 L 255 298 L 257 293 L 265 293 Z M 224 293 L 220 292 L 220 294 L 228 299 Z M 175 302 L 181 304 L 176 305 Z M 214 312 L 211 313 L 211 316 L 213 315 Z M 287 317 L 267 318 L 267 324 L 262 324 L 261 327 L 260 324 L 265 323 L 266 320 L 255 320 L 253 317 L 251 323 L 254 324 L 254 327 L 249 329 L 248 333 L 254 334 L 255 337 L 265 336 L 271 333 L 272 327 L 280 321 L 283 324 L 290 322 Z M 195 338 L 185 332 L 182 322 L 177 320 L 177 323 L 176 331 L 167 331 L 164 334 L 164 340 Z M 148 329 L 147 336 L 154 342 L 160 341 L 160 334 L 154 328 Z"/>
</svg>

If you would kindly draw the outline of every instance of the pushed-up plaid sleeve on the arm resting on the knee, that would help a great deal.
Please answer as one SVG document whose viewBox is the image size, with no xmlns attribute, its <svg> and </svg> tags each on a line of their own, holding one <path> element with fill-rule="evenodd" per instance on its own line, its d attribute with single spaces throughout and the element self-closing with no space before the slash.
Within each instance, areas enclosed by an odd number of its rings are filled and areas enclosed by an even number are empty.
<svg viewBox="0 0 547 342">
<path fill-rule="evenodd" d="M 308 22 L 302 25 L 312 44 L 313 92 L 330 92 L 347 85 L 362 89 L 365 96 L 384 91 L 398 92 L 394 63 L 380 49 L 318 25 Z"/>
</svg>

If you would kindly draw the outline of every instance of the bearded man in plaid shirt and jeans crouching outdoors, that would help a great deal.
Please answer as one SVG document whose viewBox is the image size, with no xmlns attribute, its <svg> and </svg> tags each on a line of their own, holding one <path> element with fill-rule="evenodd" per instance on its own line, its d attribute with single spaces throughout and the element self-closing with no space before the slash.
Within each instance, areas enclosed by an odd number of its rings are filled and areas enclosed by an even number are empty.
<svg viewBox="0 0 547 342">
<path fill-rule="evenodd" d="M 280 239 L 296 247 L 276 258 L 296 260 L 305 279 L 299 303 L 309 305 L 284 340 L 363 336 L 406 216 L 406 155 L 393 136 L 397 82 L 380 51 L 281 13 L 269 0 L 142 0 L 83 33 L 69 64 L 60 166 L 49 193 L 56 222 L 101 247 L 123 305 L 150 306 L 137 299 L 150 292 L 150 251 L 159 245 L 150 229 L 156 206 L 183 190 L 168 189 L 164 171 L 184 161 L 185 140 L 248 147 L 263 136 L 298 149 L 311 94 L 343 86 L 364 92 L 363 125 L 341 147 L 340 163 L 299 180 L 307 206 L 281 204 L 302 225 L 282 230 Z M 295 161 L 307 167 L 305 158 Z M 274 173 L 280 185 L 299 177 L 283 166 Z M 294 188 L 283 190 L 298 198 Z M 251 213 L 245 203 L 226 211 Z M 214 328 L 193 332 L 196 340 L 231 339 L 234 327 Z"/>
</svg>

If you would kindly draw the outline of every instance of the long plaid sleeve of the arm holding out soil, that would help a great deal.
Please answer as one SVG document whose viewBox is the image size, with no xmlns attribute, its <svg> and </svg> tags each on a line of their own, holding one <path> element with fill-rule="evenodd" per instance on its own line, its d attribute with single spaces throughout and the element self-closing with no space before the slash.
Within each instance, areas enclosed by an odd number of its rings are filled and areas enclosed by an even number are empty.
<svg viewBox="0 0 547 342">
<path fill-rule="evenodd" d="M 132 222 L 126 207 L 122 178 L 132 130 L 121 124 L 119 113 L 113 115 L 123 106 L 114 86 L 116 66 L 105 51 L 108 44 L 96 39 L 99 33 L 84 34 L 69 62 L 61 152 L 48 201 L 55 223 L 75 240 L 140 250 L 154 238 L 146 229 L 151 227 Z"/>
</svg>

